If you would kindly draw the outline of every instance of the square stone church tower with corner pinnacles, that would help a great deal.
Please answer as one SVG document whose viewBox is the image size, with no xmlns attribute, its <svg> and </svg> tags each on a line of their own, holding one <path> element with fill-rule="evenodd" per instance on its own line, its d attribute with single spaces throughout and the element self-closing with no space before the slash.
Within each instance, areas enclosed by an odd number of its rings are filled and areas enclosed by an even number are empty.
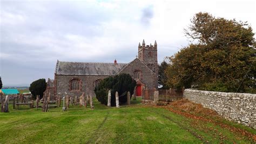
<svg viewBox="0 0 256 144">
<path fill-rule="evenodd" d="M 147 67 L 149 67 L 154 73 L 158 74 L 158 61 L 157 61 L 157 41 L 154 41 L 154 45 L 145 45 L 143 39 L 142 45 L 138 46 L 138 57 Z"/>
</svg>

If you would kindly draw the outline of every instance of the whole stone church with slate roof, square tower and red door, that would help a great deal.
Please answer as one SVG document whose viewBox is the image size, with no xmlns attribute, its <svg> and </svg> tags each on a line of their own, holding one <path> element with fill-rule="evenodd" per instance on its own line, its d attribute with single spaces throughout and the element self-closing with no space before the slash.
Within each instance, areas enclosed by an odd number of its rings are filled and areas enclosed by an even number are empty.
<svg viewBox="0 0 256 144">
<path fill-rule="evenodd" d="M 158 88 L 157 42 L 154 45 L 138 46 L 138 56 L 128 64 L 84 63 L 57 60 L 54 79 L 54 95 L 82 95 L 95 93 L 93 90 L 104 78 L 119 73 L 129 73 L 137 82 L 136 95 L 142 95 L 142 88 Z"/>
</svg>

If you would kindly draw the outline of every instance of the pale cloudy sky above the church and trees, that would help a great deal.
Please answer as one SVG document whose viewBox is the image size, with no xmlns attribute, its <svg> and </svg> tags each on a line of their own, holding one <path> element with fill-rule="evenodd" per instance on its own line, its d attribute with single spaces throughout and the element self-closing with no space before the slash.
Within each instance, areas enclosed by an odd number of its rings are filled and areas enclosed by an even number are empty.
<svg viewBox="0 0 256 144">
<path fill-rule="evenodd" d="M 0 76 L 4 86 L 54 78 L 60 61 L 129 63 L 138 43 L 158 44 L 158 63 L 190 43 L 198 12 L 248 22 L 255 1 L 0 0 Z"/>
</svg>

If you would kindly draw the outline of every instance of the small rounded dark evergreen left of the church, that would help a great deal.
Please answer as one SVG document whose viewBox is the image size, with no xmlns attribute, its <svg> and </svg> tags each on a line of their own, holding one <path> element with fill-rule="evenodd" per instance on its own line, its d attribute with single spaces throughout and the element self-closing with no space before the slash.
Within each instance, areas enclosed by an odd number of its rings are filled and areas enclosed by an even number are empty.
<svg viewBox="0 0 256 144">
<path fill-rule="evenodd" d="M 39 98 L 42 99 L 45 90 L 46 90 L 45 79 L 38 79 L 36 81 L 33 81 L 29 87 L 29 91 L 31 92 L 33 99 L 36 99 L 36 95 L 39 95 Z"/>
</svg>

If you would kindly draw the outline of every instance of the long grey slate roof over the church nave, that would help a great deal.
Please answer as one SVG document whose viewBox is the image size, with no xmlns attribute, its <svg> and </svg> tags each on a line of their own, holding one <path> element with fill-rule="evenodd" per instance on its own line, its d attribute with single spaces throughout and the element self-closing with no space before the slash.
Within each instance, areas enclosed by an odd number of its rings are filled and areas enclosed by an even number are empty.
<svg viewBox="0 0 256 144">
<path fill-rule="evenodd" d="M 114 76 L 124 63 L 80 63 L 57 61 L 55 73 L 59 75 Z"/>
</svg>

